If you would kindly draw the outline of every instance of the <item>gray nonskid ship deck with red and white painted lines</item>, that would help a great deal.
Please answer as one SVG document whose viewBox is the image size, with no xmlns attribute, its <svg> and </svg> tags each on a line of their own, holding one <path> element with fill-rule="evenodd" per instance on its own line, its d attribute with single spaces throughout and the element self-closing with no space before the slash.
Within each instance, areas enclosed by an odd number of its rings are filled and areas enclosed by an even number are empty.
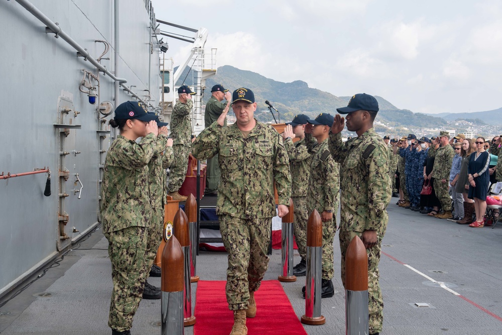
<svg viewBox="0 0 502 335">
<path fill-rule="evenodd" d="M 395 200 L 396 198 L 392 198 Z M 395 201 L 394 201 L 395 202 Z M 384 294 L 383 335 L 414 334 L 499 334 L 502 321 L 482 311 L 502 316 L 502 229 L 473 229 L 410 210 L 389 205 L 389 227 L 383 241 L 380 284 Z M 97 243 L 96 243 L 97 242 Z M 326 323 L 305 325 L 308 334 L 345 334 L 345 293 L 339 279 L 340 252 L 335 237 L 335 277 L 338 292 L 322 299 Z M 85 244 L 90 244 L 86 246 Z M 81 248 L 106 249 L 100 232 Z M 295 264 L 299 261 L 295 256 Z M 265 280 L 280 274 L 281 252 L 274 250 Z M 445 282 L 468 301 L 441 288 L 401 263 L 436 281 Z M 111 267 L 106 250 L 71 251 L 60 268 L 51 269 L 29 289 L 10 301 L 0 311 L 2 334 L 110 334 L 107 326 L 111 292 Z M 226 253 L 202 251 L 197 260 L 201 280 L 225 280 Z M 160 286 L 160 278 L 150 278 Z M 45 285 L 45 286 L 44 286 Z M 301 288 L 305 277 L 283 283 L 298 317 L 305 312 Z M 192 284 L 195 306 L 197 284 Z M 48 292 L 50 297 L 33 297 Z M 414 308 L 415 302 L 431 307 Z M 258 313 L 260 305 L 258 304 Z M 280 311 L 278 311 L 280 316 Z M 135 316 L 133 334 L 160 333 L 160 300 L 143 300 Z M 215 320 L 215 323 L 217 320 Z M 215 324 L 216 325 L 216 324 Z M 193 334 L 193 327 L 185 327 Z"/>
</svg>

